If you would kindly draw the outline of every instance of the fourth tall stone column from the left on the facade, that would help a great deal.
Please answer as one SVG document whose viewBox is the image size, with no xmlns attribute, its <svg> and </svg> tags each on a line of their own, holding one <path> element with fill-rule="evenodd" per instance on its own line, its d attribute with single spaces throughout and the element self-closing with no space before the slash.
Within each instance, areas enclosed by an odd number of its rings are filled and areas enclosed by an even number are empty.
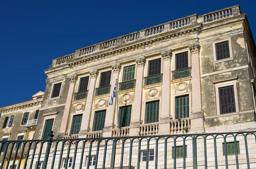
<svg viewBox="0 0 256 169">
<path fill-rule="evenodd" d="M 140 132 L 141 124 L 141 111 L 142 111 L 142 93 L 143 93 L 143 74 L 145 66 L 145 57 L 140 57 L 135 59 L 137 63 L 137 73 L 136 73 L 136 86 L 134 92 L 134 103 L 131 108 L 131 124 L 129 135 L 136 136 Z"/>
</svg>

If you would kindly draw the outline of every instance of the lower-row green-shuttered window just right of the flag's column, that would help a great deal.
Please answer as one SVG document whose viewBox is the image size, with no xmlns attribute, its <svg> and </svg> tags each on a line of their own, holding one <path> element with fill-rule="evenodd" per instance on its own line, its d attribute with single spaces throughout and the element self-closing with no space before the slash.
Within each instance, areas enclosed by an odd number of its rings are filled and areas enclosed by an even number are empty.
<svg viewBox="0 0 256 169">
<path fill-rule="evenodd" d="M 119 126 L 130 126 L 131 122 L 131 106 L 120 107 L 119 109 Z"/>
</svg>

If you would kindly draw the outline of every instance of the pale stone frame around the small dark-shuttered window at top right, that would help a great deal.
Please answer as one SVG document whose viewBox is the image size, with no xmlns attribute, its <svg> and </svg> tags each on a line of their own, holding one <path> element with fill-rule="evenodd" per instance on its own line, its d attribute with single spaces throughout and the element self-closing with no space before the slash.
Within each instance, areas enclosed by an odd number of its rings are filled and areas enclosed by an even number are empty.
<svg viewBox="0 0 256 169">
<path fill-rule="evenodd" d="M 227 57 L 225 59 L 217 60 L 215 44 L 216 43 L 225 42 L 225 41 L 228 41 L 228 46 L 229 46 L 229 50 L 230 50 L 230 57 Z M 220 62 L 224 62 L 224 61 L 227 61 L 227 60 L 233 60 L 234 59 L 233 58 L 233 50 L 232 50 L 231 37 L 212 42 L 212 50 L 213 50 L 213 63 L 220 63 Z"/>
</svg>

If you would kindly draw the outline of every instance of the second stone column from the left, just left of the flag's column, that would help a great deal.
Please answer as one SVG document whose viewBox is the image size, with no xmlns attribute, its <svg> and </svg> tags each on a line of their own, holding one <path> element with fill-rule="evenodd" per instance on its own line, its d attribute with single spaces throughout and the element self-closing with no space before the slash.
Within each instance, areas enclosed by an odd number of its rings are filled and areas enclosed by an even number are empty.
<svg viewBox="0 0 256 169">
<path fill-rule="evenodd" d="M 81 129 L 79 132 L 79 135 L 86 137 L 87 132 L 90 132 L 89 123 L 91 119 L 91 111 L 92 111 L 92 105 L 93 105 L 93 95 L 96 85 L 96 79 L 98 77 L 99 71 L 93 70 L 90 72 L 90 83 L 89 83 L 89 89 L 87 94 L 87 99 L 85 103 L 85 110 L 82 117 L 82 123 L 81 123 Z"/>
</svg>

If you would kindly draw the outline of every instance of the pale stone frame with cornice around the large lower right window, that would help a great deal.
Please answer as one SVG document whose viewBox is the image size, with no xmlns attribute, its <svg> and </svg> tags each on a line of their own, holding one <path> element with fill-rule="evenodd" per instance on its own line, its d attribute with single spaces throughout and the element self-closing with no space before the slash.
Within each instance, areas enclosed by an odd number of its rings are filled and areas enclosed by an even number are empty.
<svg viewBox="0 0 256 169">
<path fill-rule="evenodd" d="M 233 85 L 233 88 L 234 88 L 236 112 L 239 112 L 236 82 L 237 82 L 237 80 L 230 80 L 230 81 L 221 81 L 221 82 L 215 83 L 215 97 L 216 97 L 216 112 L 217 112 L 217 115 L 229 115 L 230 114 L 230 113 L 221 114 L 218 88 L 226 87 L 226 86 L 232 86 L 232 85 Z M 236 112 L 232 112 L 232 113 L 236 113 Z"/>
</svg>

